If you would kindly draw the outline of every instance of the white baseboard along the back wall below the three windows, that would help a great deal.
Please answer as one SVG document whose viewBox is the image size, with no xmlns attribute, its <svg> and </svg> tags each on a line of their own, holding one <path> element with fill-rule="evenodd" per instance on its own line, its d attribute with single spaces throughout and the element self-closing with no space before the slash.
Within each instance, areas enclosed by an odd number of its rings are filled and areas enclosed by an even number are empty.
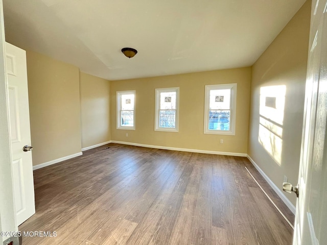
<svg viewBox="0 0 327 245">
<path fill-rule="evenodd" d="M 180 151 L 180 152 L 196 152 L 196 153 L 226 155 L 226 156 L 238 156 L 238 157 L 246 157 L 247 156 L 246 153 L 205 151 L 205 150 L 175 148 L 175 147 L 151 145 L 151 144 L 139 144 L 139 143 L 131 143 L 131 142 L 125 142 L 125 141 L 116 141 L 116 140 L 111 140 L 111 143 L 128 144 L 128 145 L 134 145 L 134 146 L 142 146 L 142 147 L 147 147 L 147 148 L 155 148 L 155 149 L 171 150 L 171 151 Z"/>
</svg>

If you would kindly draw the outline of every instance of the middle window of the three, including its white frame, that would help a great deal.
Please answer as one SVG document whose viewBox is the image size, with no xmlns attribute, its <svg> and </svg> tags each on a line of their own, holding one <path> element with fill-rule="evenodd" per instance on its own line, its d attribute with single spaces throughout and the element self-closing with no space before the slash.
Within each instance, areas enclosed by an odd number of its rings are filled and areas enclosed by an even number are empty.
<svg viewBox="0 0 327 245">
<path fill-rule="evenodd" d="M 178 132 L 179 88 L 155 90 L 155 131 Z"/>
</svg>

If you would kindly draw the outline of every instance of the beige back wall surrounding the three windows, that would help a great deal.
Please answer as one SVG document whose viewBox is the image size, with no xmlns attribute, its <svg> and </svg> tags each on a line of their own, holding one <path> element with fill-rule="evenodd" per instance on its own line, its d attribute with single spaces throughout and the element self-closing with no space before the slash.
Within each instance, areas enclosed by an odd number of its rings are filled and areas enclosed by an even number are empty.
<svg viewBox="0 0 327 245">
<path fill-rule="evenodd" d="M 250 67 L 111 81 L 111 140 L 195 150 L 247 153 Z M 237 83 L 236 135 L 203 134 L 204 86 Z M 155 89 L 179 87 L 179 132 L 154 131 Z M 116 91 L 136 90 L 136 130 L 116 129 Z M 126 137 L 128 133 L 128 137 Z M 220 144 L 220 139 L 224 143 Z"/>
</svg>

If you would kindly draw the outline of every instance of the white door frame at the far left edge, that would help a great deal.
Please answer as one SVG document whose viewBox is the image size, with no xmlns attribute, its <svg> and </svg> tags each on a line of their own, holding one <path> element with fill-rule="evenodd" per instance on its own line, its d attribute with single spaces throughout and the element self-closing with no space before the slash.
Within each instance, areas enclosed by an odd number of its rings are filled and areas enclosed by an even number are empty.
<svg viewBox="0 0 327 245">
<path fill-rule="evenodd" d="M 18 231 L 14 210 L 11 141 L 9 135 L 8 83 L 6 71 L 3 2 L 0 0 L 0 229 Z M 8 237 L 1 237 L 2 243 Z M 0 243 L 0 244 L 1 244 Z"/>
</svg>

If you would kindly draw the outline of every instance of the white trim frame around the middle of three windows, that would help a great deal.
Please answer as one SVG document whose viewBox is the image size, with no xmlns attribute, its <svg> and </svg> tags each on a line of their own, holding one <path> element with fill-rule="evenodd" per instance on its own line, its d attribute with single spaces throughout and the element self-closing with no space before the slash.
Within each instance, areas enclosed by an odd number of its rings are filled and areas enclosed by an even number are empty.
<svg viewBox="0 0 327 245">
<path fill-rule="evenodd" d="M 160 128 L 159 127 L 159 110 L 160 110 L 160 93 L 161 92 L 176 92 L 176 115 L 175 115 L 175 128 Z M 154 131 L 164 132 L 178 132 L 179 121 L 179 87 L 175 88 L 156 88 L 155 89 L 155 118 L 154 118 Z"/>
</svg>

